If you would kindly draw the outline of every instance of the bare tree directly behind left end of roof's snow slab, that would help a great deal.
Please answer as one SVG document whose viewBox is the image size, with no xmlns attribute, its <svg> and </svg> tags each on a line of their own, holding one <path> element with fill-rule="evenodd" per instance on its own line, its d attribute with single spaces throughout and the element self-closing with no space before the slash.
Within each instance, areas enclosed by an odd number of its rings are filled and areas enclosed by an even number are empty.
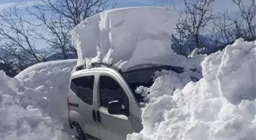
<svg viewBox="0 0 256 140">
<path fill-rule="evenodd" d="M 109 0 L 41 0 L 34 5 L 36 11 L 29 8 L 27 11 L 40 20 L 37 26 L 46 30 L 38 33 L 39 39 L 61 51 L 62 58 L 67 59 L 69 52 L 77 53 L 71 45 L 70 31 L 82 20 L 109 7 Z"/>
</svg>

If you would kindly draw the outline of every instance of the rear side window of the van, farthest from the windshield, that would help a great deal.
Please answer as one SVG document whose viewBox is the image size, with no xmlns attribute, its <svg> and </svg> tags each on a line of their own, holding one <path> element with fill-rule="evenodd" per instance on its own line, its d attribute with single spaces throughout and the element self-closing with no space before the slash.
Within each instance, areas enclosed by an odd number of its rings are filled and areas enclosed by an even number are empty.
<svg viewBox="0 0 256 140">
<path fill-rule="evenodd" d="M 72 79 L 70 89 L 86 104 L 92 104 L 94 76 L 82 76 Z"/>
</svg>

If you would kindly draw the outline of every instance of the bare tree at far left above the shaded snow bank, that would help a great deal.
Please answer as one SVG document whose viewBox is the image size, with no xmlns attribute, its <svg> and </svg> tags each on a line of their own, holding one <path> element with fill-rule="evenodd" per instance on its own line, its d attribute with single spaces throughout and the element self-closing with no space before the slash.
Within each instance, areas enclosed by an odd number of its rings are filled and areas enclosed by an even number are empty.
<svg viewBox="0 0 256 140">
<path fill-rule="evenodd" d="M 45 60 L 45 52 L 36 47 L 34 28 L 18 14 L 18 8 L 0 12 L 0 60 L 19 70 Z"/>
</svg>

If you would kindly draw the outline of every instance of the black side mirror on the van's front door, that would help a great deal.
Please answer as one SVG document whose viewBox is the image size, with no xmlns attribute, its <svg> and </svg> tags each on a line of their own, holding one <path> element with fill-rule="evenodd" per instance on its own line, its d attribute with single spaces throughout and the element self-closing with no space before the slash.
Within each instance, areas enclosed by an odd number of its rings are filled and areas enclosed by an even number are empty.
<svg viewBox="0 0 256 140">
<path fill-rule="evenodd" d="M 108 103 L 107 111 L 109 114 L 118 115 L 122 114 L 122 104 L 120 101 L 110 101 Z"/>
</svg>

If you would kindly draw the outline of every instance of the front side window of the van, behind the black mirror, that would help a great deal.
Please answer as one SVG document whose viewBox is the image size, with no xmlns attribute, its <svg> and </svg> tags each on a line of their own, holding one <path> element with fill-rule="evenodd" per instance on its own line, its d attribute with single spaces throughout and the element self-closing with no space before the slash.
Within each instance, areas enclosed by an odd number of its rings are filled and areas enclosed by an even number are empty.
<svg viewBox="0 0 256 140">
<path fill-rule="evenodd" d="M 120 101 L 124 110 L 129 110 L 129 98 L 119 83 L 109 76 L 100 78 L 100 104 L 107 108 L 110 101 Z"/>
</svg>

